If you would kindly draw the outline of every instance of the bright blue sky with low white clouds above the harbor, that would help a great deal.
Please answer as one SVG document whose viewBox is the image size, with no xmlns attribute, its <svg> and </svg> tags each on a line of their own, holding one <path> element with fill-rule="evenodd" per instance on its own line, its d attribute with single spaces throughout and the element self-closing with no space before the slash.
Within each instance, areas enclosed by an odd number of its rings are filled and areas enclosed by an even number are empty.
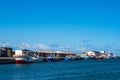
<svg viewBox="0 0 120 80">
<path fill-rule="evenodd" d="M 1 0 L 0 45 L 120 51 L 119 0 Z M 36 46 L 36 47 L 35 47 Z"/>
</svg>

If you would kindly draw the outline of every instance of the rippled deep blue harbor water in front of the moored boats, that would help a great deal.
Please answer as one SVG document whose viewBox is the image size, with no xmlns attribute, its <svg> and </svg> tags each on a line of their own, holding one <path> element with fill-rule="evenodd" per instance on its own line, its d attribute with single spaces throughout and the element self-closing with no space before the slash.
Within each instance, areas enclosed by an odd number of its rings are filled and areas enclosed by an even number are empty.
<svg viewBox="0 0 120 80">
<path fill-rule="evenodd" d="M 0 80 L 120 80 L 120 59 L 0 64 Z"/>
</svg>

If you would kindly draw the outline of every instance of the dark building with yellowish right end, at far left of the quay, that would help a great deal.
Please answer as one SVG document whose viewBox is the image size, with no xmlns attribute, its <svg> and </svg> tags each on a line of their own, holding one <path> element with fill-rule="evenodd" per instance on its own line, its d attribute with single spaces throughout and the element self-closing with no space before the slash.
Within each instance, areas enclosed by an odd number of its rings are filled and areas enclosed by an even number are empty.
<svg viewBox="0 0 120 80">
<path fill-rule="evenodd" d="M 12 48 L 0 47 L 0 57 L 12 57 Z"/>
</svg>

